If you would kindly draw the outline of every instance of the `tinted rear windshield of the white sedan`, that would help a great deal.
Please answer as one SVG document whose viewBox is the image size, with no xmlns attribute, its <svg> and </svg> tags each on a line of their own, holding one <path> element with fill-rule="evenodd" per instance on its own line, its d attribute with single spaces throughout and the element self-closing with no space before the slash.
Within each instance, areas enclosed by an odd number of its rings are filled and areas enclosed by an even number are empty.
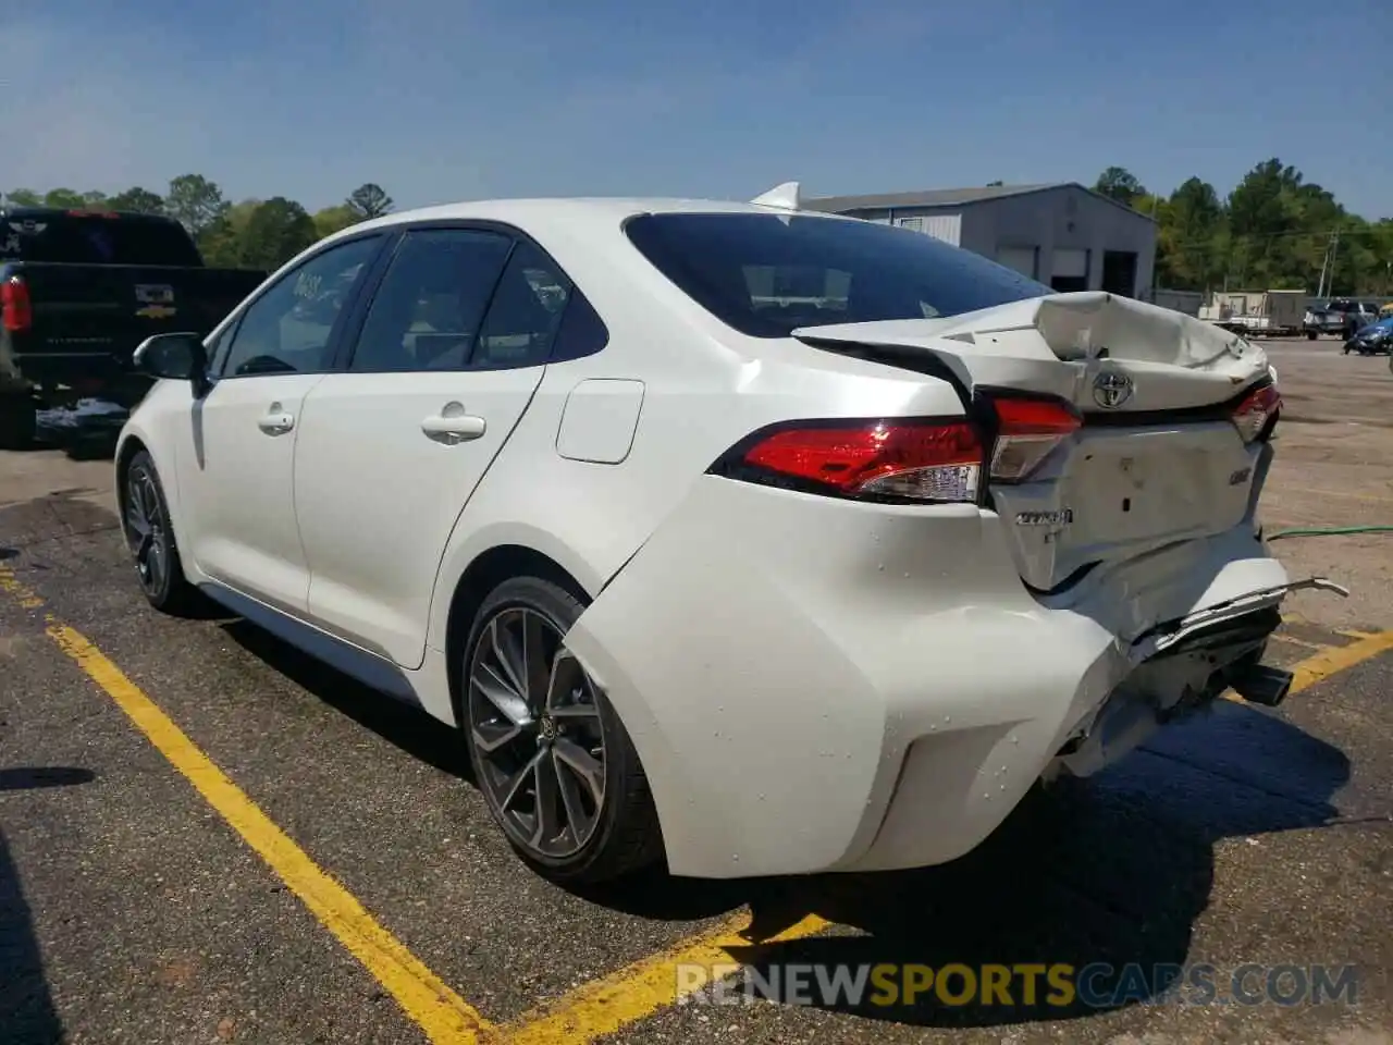
<svg viewBox="0 0 1393 1045">
<path fill-rule="evenodd" d="M 755 337 L 800 326 L 953 316 L 1050 288 L 924 233 L 779 215 L 644 215 L 625 226 L 657 269 Z"/>
</svg>

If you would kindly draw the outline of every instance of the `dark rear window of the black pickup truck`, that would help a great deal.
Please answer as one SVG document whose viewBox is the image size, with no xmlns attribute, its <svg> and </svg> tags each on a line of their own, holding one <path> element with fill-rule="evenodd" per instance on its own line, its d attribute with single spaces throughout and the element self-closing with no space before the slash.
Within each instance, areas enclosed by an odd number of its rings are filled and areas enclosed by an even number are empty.
<svg viewBox="0 0 1393 1045">
<path fill-rule="evenodd" d="M 0 259 L 68 265 L 203 263 L 178 222 L 65 213 L 4 215 Z"/>
</svg>

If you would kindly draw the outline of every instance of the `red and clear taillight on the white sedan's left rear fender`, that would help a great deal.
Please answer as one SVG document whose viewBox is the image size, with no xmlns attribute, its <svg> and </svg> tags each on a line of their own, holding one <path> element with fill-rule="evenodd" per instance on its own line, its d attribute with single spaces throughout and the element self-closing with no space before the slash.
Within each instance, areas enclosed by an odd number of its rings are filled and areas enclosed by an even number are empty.
<svg viewBox="0 0 1393 1045">
<path fill-rule="evenodd" d="M 759 439 L 737 463 L 853 497 L 976 502 L 982 442 L 965 421 L 809 422 Z"/>
</svg>

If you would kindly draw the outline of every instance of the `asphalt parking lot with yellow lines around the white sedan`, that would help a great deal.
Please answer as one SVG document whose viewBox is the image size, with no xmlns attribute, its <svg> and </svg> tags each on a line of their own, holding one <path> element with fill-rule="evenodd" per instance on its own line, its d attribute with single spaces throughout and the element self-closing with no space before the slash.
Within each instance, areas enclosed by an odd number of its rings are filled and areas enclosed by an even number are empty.
<svg viewBox="0 0 1393 1045">
<path fill-rule="evenodd" d="M 1272 354 L 1269 527 L 1393 522 L 1387 361 Z M 110 485 L 0 454 L 4 1042 L 1393 1042 L 1390 535 L 1275 545 L 1354 589 L 1295 602 L 1280 711 L 1220 701 L 957 864 L 575 895 L 511 856 L 447 729 L 149 610 Z M 1205 963 L 1219 999 L 678 1003 L 730 963 Z M 1357 996 L 1234 1003 L 1244 966 L 1355 967 Z"/>
</svg>

